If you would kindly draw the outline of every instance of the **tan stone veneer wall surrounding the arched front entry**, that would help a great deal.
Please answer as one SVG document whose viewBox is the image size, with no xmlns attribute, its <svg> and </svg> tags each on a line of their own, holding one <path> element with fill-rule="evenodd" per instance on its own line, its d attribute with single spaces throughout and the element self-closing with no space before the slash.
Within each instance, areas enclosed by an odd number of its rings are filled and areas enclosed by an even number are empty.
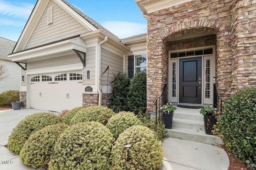
<svg viewBox="0 0 256 170">
<path fill-rule="evenodd" d="M 163 84 L 168 84 L 168 42 L 174 37 L 216 34 L 216 76 L 218 92 L 224 99 L 244 88 L 244 83 L 255 84 L 255 11 L 256 0 L 194 0 L 148 14 L 147 110 L 154 111 L 153 100 L 160 96 Z M 242 29 L 237 25 L 243 25 Z M 239 49 L 238 44 L 246 47 Z M 234 59 L 252 63 L 242 65 Z M 243 76 L 248 82 L 242 82 Z"/>
</svg>

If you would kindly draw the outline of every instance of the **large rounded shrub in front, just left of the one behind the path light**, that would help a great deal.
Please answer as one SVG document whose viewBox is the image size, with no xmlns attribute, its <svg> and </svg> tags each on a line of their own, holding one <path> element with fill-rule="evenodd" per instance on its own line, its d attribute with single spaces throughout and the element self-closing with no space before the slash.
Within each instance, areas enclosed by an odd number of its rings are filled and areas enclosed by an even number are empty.
<svg viewBox="0 0 256 170">
<path fill-rule="evenodd" d="M 109 170 L 113 135 L 98 122 L 72 125 L 60 135 L 49 170 Z"/>
</svg>

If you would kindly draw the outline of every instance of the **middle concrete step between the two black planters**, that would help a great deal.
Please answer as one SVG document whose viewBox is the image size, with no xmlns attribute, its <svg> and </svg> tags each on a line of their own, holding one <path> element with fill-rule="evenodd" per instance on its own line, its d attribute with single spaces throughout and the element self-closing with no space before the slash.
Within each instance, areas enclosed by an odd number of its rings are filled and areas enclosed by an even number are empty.
<svg viewBox="0 0 256 170">
<path fill-rule="evenodd" d="M 201 116 L 202 121 L 193 121 L 188 119 L 176 119 L 172 120 L 172 127 L 182 128 L 182 129 L 191 129 L 191 130 L 200 130 L 204 129 L 203 117 Z"/>
</svg>

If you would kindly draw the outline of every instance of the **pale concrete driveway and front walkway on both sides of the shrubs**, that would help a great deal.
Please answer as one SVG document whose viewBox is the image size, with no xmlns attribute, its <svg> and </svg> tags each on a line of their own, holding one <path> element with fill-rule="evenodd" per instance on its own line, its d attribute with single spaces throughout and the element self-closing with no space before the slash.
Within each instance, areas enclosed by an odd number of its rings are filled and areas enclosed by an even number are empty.
<svg viewBox="0 0 256 170">
<path fill-rule="evenodd" d="M 34 109 L 0 111 L 0 170 L 33 170 L 20 162 L 19 156 L 4 145 L 7 145 L 12 129 L 26 115 L 38 112 Z M 167 138 L 162 147 L 164 160 L 159 170 L 227 170 L 229 166 L 224 149 L 213 145 Z"/>
</svg>

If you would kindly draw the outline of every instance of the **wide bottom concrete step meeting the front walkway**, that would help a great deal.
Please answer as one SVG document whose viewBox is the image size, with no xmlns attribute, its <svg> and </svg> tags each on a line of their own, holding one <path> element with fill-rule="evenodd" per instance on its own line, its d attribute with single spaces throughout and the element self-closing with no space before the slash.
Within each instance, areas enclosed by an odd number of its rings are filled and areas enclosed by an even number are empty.
<svg viewBox="0 0 256 170">
<path fill-rule="evenodd" d="M 210 145 L 220 146 L 223 144 L 222 139 L 216 135 L 206 135 L 204 129 L 190 130 L 173 127 L 173 129 L 167 129 L 168 137 L 174 137 L 178 139 L 184 139 L 188 141 L 206 143 Z"/>
</svg>

